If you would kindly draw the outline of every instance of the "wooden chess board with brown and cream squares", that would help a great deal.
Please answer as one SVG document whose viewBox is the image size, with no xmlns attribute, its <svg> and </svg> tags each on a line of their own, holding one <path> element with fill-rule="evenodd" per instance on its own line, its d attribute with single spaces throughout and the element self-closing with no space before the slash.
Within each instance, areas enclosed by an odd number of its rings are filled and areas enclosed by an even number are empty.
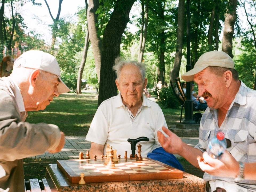
<svg viewBox="0 0 256 192">
<path fill-rule="evenodd" d="M 81 173 L 85 174 L 86 183 L 183 178 L 183 171 L 150 158 L 143 158 L 142 161 L 136 161 L 135 158 L 121 158 L 115 167 L 107 167 L 104 161 L 104 159 L 58 160 L 57 165 L 70 183 L 78 183 Z"/>
</svg>

